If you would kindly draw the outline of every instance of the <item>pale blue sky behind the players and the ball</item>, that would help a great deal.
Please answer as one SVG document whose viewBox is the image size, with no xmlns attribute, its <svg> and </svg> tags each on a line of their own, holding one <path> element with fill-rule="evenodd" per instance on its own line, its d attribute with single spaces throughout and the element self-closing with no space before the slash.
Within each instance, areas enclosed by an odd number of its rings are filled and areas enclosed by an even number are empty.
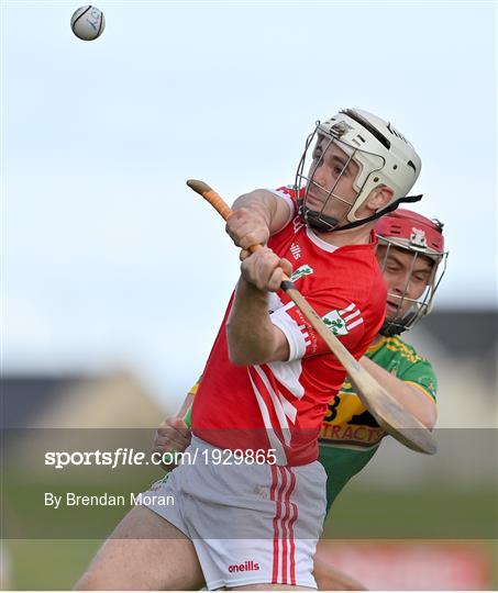
<svg viewBox="0 0 498 593">
<path fill-rule="evenodd" d="M 2 317 L 9 370 L 201 371 L 237 253 L 185 186 L 294 180 L 314 121 L 390 119 L 446 223 L 439 307 L 496 302 L 496 4 L 2 2 Z"/>
</svg>

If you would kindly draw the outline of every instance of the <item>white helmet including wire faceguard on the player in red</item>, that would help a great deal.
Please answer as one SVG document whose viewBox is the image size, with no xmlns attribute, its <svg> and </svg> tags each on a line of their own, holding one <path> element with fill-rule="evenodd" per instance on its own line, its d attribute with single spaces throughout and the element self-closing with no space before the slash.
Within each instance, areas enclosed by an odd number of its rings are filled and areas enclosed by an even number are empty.
<svg viewBox="0 0 498 593">
<path fill-rule="evenodd" d="M 317 144 L 310 155 L 309 148 L 313 141 Z M 328 154 L 333 150 L 333 146 L 340 149 L 343 157 L 339 159 L 341 170 L 335 172 L 331 187 L 325 188 L 317 180 L 316 174 Z M 341 178 L 352 168 L 355 170 L 354 193 L 341 195 L 337 191 Z M 391 124 L 366 111 L 341 111 L 323 123 L 317 122 L 314 131 L 307 138 L 296 174 L 296 188 L 306 188 L 305 198 L 299 204 L 300 214 L 318 231 L 333 231 L 337 228 L 340 221 L 327 216 L 324 210 L 330 200 L 337 200 L 346 204 L 342 219 L 350 223 L 341 228 L 350 227 L 352 223 L 362 223 L 363 219 L 357 216 L 357 211 L 372 190 L 380 186 L 391 188 L 391 203 L 408 193 L 420 169 L 421 161 L 416 150 Z M 313 194 L 320 197 L 314 204 L 313 200 L 310 200 Z M 321 204 L 319 209 L 318 202 Z"/>
</svg>

